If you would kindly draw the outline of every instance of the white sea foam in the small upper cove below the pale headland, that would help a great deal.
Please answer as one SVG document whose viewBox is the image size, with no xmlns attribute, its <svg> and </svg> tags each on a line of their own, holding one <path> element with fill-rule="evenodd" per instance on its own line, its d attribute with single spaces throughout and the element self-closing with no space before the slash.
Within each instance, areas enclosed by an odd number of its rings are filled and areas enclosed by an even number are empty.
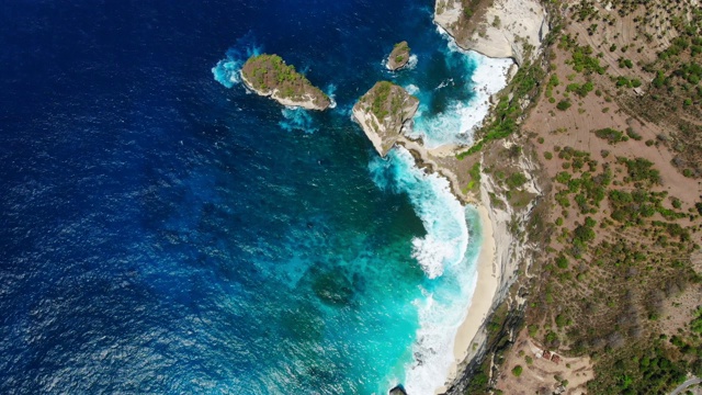
<svg viewBox="0 0 702 395">
<path fill-rule="evenodd" d="M 474 98 L 468 102 L 453 101 L 448 108 L 435 115 L 429 115 L 427 104 L 420 104 L 415 116 L 415 126 L 411 136 L 421 137 L 430 148 L 442 145 L 473 143 L 473 133 L 483 124 L 483 120 L 490 106 L 490 97 L 499 92 L 507 86 L 507 74 L 513 61 L 511 59 L 492 59 L 475 52 L 461 49 L 451 36 L 442 32 L 449 40 L 446 49 L 446 60 L 450 60 L 451 53 L 461 53 L 465 56 L 460 58 L 462 65 L 457 68 L 472 72 L 472 82 L 465 89 L 475 92 Z M 454 83 L 453 80 L 442 81 L 435 90 Z M 420 98 L 421 99 L 421 98 Z M 424 103 L 429 102 L 423 100 Z"/>
</svg>

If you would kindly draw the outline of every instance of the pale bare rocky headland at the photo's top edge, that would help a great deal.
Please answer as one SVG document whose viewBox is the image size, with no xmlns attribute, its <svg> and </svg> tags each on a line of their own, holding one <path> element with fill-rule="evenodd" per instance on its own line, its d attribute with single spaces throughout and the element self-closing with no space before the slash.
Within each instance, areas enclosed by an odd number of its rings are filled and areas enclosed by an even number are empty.
<svg viewBox="0 0 702 395">
<path fill-rule="evenodd" d="M 509 57 L 518 65 L 533 60 L 548 34 L 546 11 L 539 0 L 437 0 L 434 22 L 460 47 Z"/>
</svg>

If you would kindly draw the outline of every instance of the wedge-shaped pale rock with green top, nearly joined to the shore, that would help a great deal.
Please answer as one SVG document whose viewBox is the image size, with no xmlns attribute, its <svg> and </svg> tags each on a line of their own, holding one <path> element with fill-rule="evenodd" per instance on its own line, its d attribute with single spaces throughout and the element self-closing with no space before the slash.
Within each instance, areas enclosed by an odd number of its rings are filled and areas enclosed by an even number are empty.
<svg viewBox="0 0 702 395">
<path fill-rule="evenodd" d="M 353 117 L 361 124 L 375 150 L 385 157 L 419 108 L 419 99 L 392 82 L 375 83 L 353 105 Z"/>
</svg>

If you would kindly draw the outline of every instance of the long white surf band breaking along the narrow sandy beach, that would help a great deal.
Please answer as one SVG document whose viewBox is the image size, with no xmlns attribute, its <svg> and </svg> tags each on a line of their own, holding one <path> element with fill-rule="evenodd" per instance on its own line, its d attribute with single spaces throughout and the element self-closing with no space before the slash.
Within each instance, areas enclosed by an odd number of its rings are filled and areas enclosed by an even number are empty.
<svg viewBox="0 0 702 395">
<path fill-rule="evenodd" d="M 469 242 L 466 208 L 451 193 L 449 181 L 419 169 L 405 148 L 390 150 L 388 160 L 373 159 L 369 169 L 378 188 L 407 193 L 427 230 L 412 240 L 412 257 L 428 279 L 423 297 L 414 303 L 419 313 L 414 358 L 405 377 L 392 384 L 401 382 L 411 395 L 433 394 L 454 362 L 455 337 L 476 284 L 479 246 Z"/>
</svg>

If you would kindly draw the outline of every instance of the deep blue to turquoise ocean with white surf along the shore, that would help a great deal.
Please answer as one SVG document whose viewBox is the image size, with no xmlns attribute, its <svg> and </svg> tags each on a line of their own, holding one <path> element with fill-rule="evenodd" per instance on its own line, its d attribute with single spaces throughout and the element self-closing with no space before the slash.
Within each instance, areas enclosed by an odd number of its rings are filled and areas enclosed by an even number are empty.
<svg viewBox="0 0 702 395">
<path fill-rule="evenodd" d="M 480 226 L 351 120 L 381 79 L 461 129 L 433 0 L 0 5 L 0 393 L 410 395 L 443 384 Z M 384 57 L 407 40 L 411 69 Z M 250 94 L 275 53 L 326 112 Z M 461 111 L 457 111 L 461 110 Z"/>
</svg>

